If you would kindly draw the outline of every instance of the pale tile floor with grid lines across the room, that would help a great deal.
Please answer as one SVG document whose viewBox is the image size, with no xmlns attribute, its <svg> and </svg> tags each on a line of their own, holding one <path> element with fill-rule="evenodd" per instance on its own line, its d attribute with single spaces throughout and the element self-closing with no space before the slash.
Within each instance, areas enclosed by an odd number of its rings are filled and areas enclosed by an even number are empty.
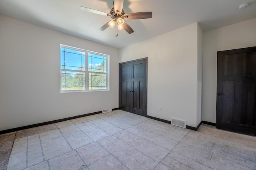
<svg viewBox="0 0 256 170">
<path fill-rule="evenodd" d="M 252 170 L 256 137 L 116 110 L 0 135 L 0 170 Z"/>
</svg>

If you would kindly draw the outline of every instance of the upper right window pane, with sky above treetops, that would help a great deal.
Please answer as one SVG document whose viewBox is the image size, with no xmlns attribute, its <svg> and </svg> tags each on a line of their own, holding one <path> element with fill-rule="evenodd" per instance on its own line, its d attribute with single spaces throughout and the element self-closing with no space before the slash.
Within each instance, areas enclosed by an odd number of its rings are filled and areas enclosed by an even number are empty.
<svg viewBox="0 0 256 170">
<path fill-rule="evenodd" d="M 106 56 L 89 53 L 88 70 L 92 72 L 106 72 Z"/>
</svg>

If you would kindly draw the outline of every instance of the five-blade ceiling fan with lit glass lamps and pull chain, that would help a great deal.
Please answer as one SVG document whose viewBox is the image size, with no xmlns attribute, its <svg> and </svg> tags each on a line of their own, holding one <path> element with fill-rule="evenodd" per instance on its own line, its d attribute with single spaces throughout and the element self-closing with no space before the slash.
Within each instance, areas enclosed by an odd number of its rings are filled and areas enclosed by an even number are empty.
<svg viewBox="0 0 256 170">
<path fill-rule="evenodd" d="M 100 31 L 104 31 L 106 28 L 111 27 L 113 28 L 114 25 L 117 25 L 116 28 L 116 36 L 118 35 L 117 29 L 122 30 L 124 29 L 129 34 L 133 33 L 133 29 L 126 23 L 124 20 L 137 20 L 137 19 L 146 19 L 152 18 L 152 12 L 135 12 L 130 14 L 125 14 L 123 10 L 124 0 L 114 0 L 113 2 L 114 7 L 110 10 L 110 13 L 94 10 L 91 8 L 86 8 L 81 6 L 81 10 L 92 12 L 95 14 L 100 14 L 103 16 L 109 16 L 112 20 L 105 23 L 102 27 L 100 27 Z"/>
</svg>

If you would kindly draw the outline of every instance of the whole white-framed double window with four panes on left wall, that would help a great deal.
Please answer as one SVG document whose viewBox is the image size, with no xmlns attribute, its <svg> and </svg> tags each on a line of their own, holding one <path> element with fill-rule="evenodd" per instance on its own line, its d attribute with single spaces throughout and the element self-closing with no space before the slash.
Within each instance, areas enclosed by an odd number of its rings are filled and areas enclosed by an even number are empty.
<svg viewBox="0 0 256 170">
<path fill-rule="evenodd" d="M 60 92 L 108 90 L 108 55 L 60 45 Z"/>
</svg>

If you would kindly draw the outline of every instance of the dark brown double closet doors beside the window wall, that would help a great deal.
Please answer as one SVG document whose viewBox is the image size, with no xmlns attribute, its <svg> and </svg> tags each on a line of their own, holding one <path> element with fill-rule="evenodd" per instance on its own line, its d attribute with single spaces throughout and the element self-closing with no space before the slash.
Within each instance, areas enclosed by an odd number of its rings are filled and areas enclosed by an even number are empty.
<svg viewBox="0 0 256 170">
<path fill-rule="evenodd" d="M 119 64 L 119 108 L 147 115 L 147 59 Z"/>
</svg>

